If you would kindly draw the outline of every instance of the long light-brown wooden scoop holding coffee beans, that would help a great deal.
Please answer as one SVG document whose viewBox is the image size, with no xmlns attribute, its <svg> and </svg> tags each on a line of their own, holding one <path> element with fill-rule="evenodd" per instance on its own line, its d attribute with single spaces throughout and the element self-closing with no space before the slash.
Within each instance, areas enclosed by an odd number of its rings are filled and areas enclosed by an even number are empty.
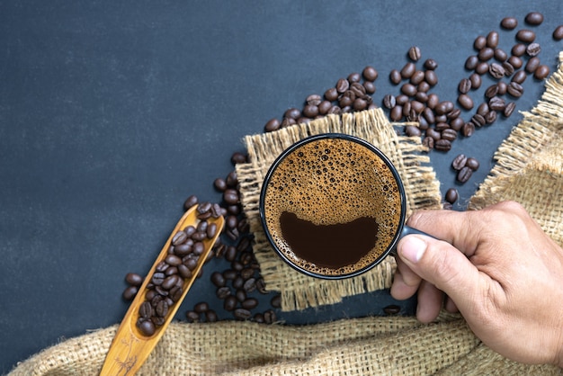
<svg viewBox="0 0 563 376">
<path fill-rule="evenodd" d="M 165 246 L 162 248 L 158 257 L 156 257 L 155 264 L 153 264 L 150 268 L 147 278 L 145 278 L 145 281 L 139 288 L 139 292 L 137 293 L 135 300 L 132 301 L 129 310 L 125 314 L 125 318 L 123 318 L 120 327 L 117 329 L 117 333 L 113 338 L 110 350 L 105 357 L 105 362 L 103 363 L 102 371 L 100 372 L 101 376 L 135 374 L 139 371 L 141 365 L 145 363 L 148 355 L 156 346 L 160 337 L 165 333 L 165 328 L 168 327 L 168 324 L 174 318 L 176 311 L 182 304 L 183 298 L 192 287 L 192 283 L 197 278 L 198 273 L 200 273 L 201 266 L 205 263 L 205 259 L 209 255 L 211 248 L 217 241 L 217 238 L 223 229 L 225 219 L 223 219 L 222 216 L 219 218 L 211 217 L 210 219 L 207 219 L 210 224 L 215 223 L 217 225 L 215 236 L 211 239 L 205 239 L 202 241 L 205 249 L 199 257 L 197 266 L 194 270 L 192 270 L 192 277 L 184 279 L 183 281 L 183 293 L 181 298 L 168 309 L 164 324 L 160 327 L 156 327 L 156 331 L 152 336 L 145 336 L 139 331 L 139 328 L 136 325 L 139 318 L 139 306 L 145 301 L 147 284 L 150 282 L 152 275 L 155 273 L 156 265 L 163 261 L 166 255 L 168 255 L 168 248 L 172 243 L 174 235 L 178 231 L 183 230 L 190 225 L 197 227 L 200 222 L 200 219 L 198 219 L 197 216 L 197 205 L 195 205 L 190 210 L 186 211 L 183 217 L 178 221 L 178 224 L 174 228 L 170 237 L 168 237 Z"/>
</svg>

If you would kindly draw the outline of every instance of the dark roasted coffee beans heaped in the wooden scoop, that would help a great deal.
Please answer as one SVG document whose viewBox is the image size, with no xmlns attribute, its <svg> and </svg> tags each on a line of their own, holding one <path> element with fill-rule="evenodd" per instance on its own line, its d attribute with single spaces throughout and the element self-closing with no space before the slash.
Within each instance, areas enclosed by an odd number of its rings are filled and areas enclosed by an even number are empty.
<svg viewBox="0 0 563 376">
<path fill-rule="evenodd" d="M 156 264 L 155 272 L 149 276 L 145 301 L 139 307 L 137 327 L 145 336 L 152 336 L 156 329 L 166 320 L 168 311 L 183 295 L 184 283 L 195 278 L 193 272 L 200 264 L 201 255 L 205 251 L 205 241 L 217 235 L 217 224 L 208 219 L 217 219 L 222 210 L 219 205 L 203 202 L 197 206 L 197 227 L 188 226 L 172 237 L 170 248 L 165 259 Z M 208 254 L 207 262 L 212 257 Z M 201 272 L 201 269 L 200 269 Z M 129 278 L 128 278 L 129 277 Z M 129 273 L 128 282 L 139 286 L 139 276 Z"/>
</svg>

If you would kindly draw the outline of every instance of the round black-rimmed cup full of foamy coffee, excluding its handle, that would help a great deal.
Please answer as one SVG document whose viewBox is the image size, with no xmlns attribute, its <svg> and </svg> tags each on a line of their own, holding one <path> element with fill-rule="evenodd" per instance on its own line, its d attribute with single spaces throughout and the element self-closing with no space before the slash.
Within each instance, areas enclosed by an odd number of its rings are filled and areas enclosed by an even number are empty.
<svg viewBox="0 0 563 376">
<path fill-rule="evenodd" d="M 405 217 L 405 188 L 389 158 L 340 133 L 287 148 L 260 195 L 260 218 L 273 249 L 317 278 L 353 277 L 380 264 L 406 235 Z"/>
</svg>

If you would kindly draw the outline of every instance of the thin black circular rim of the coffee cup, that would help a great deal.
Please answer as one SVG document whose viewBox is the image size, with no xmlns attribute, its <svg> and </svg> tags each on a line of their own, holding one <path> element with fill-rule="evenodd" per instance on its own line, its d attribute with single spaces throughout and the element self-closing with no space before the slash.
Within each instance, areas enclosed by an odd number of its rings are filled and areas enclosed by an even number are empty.
<svg viewBox="0 0 563 376">
<path fill-rule="evenodd" d="M 344 274 L 338 274 L 338 275 L 327 275 L 327 274 L 323 274 L 323 273 L 314 273 L 314 272 L 311 272 L 307 269 L 300 267 L 297 264 L 294 264 L 281 251 L 281 249 L 279 249 L 278 246 L 276 246 L 275 241 L 273 241 L 273 237 L 270 234 L 270 230 L 269 230 L 267 222 L 266 222 L 265 208 L 264 208 L 265 193 L 266 193 L 266 190 L 268 188 L 268 184 L 270 183 L 272 175 L 275 172 L 277 166 L 280 165 L 281 161 L 283 159 L 285 159 L 285 157 L 290 155 L 295 149 L 300 148 L 303 145 L 308 144 L 309 142 L 316 141 L 317 139 L 346 139 L 346 140 L 349 140 L 349 141 L 356 142 L 356 143 L 362 145 L 364 148 L 370 149 L 371 152 L 375 153 L 378 157 L 380 157 L 380 159 L 385 163 L 385 165 L 389 167 L 389 170 L 391 171 L 391 173 L 392 173 L 393 177 L 395 178 L 395 181 L 397 182 L 397 185 L 398 185 L 401 212 L 400 212 L 400 217 L 399 217 L 398 228 L 397 228 L 397 231 L 396 231 L 393 239 L 391 240 L 391 242 L 389 242 L 389 246 L 386 248 L 386 250 L 378 258 L 376 258 L 371 264 L 368 264 L 368 265 L 362 267 L 361 269 L 358 269 L 358 270 L 356 270 L 352 273 L 344 273 Z M 264 229 L 264 234 L 265 234 L 266 238 L 268 239 L 268 242 L 273 247 L 273 250 L 276 252 L 276 254 L 279 255 L 281 257 L 281 259 L 286 264 L 289 264 L 290 267 L 292 267 L 294 270 L 297 270 L 299 273 L 303 273 L 303 274 L 306 274 L 306 275 L 311 276 L 311 277 L 316 277 L 316 278 L 324 279 L 324 280 L 343 280 L 343 279 L 346 279 L 346 278 L 352 278 L 352 277 L 355 277 L 355 276 L 360 275 L 362 273 L 368 272 L 373 267 L 380 264 L 381 261 L 383 261 L 383 259 L 385 259 L 387 257 L 387 255 L 389 255 L 389 253 L 395 248 L 395 246 L 397 245 L 398 239 L 400 237 L 400 234 L 401 234 L 401 232 L 402 232 L 402 230 L 405 226 L 405 219 L 407 217 L 406 204 L 407 204 L 407 197 L 406 197 L 406 193 L 405 193 L 405 186 L 403 185 L 401 177 L 398 175 L 397 168 L 389 160 L 389 157 L 387 157 L 379 148 L 376 148 L 375 146 L 373 146 L 370 142 L 366 141 L 365 139 L 361 139 L 357 136 L 349 135 L 349 134 L 346 134 L 346 133 L 330 132 L 330 133 L 320 133 L 320 134 L 317 134 L 317 135 L 308 136 L 304 139 L 299 139 L 299 141 L 293 143 L 289 148 L 286 148 L 285 150 L 283 150 L 281 152 L 281 154 L 278 157 L 276 157 L 276 159 L 273 161 L 272 166 L 270 166 L 268 168 L 268 172 L 264 176 L 264 181 L 263 181 L 262 187 L 260 189 L 259 213 L 260 213 L 260 222 L 262 224 L 262 228 Z"/>
</svg>

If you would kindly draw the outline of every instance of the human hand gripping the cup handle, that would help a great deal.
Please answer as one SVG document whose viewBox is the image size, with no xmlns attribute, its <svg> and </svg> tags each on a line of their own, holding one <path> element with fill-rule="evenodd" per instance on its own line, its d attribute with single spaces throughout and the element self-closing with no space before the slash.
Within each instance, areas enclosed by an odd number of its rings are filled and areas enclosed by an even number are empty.
<svg viewBox="0 0 563 376">
<path fill-rule="evenodd" d="M 407 224 L 442 240 L 399 241 L 395 299 L 417 291 L 416 317 L 430 322 L 445 298 L 497 353 L 563 367 L 563 249 L 520 204 L 417 211 Z"/>
</svg>

